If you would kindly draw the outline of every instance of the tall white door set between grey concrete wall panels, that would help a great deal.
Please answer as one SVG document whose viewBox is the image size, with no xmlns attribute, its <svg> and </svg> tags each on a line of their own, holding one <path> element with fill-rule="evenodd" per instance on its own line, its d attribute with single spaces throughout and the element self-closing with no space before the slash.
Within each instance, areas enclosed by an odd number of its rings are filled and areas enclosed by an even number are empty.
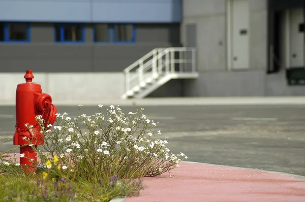
<svg viewBox="0 0 305 202">
<path fill-rule="evenodd" d="M 230 2 L 231 64 L 232 69 L 249 68 L 249 2 Z"/>
</svg>

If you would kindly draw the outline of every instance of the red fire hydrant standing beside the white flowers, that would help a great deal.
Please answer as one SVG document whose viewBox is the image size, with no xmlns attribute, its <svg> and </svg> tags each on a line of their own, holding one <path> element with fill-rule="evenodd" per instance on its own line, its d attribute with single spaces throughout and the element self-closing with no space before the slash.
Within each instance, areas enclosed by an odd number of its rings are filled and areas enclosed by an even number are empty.
<svg viewBox="0 0 305 202">
<path fill-rule="evenodd" d="M 52 104 L 52 98 L 42 93 L 41 85 L 33 83 L 32 70 L 26 70 L 25 83 L 17 85 L 16 89 L 16 126 L 14 145 L 20 145 L 20 165 L 25 173 L 37 173 L 38 145 L 44 145 L 44 135 L 36 120 L 42 115 L 44 127 L 53 124 L 56 119 L 57 109 Z M 28 126 L 32 125 L 32 129 Z"/>
</svg>

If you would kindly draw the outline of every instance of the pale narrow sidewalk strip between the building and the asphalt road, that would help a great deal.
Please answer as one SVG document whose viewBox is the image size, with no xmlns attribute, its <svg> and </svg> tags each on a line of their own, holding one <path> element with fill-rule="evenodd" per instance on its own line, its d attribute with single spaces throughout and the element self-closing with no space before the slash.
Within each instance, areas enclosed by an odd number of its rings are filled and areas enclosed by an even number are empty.
<svg viewBox="0 0 305 202">
<path fill-rule="evenodd" d="M 305 105 L 305 96 L 268 97 L 162 97 L 143 99 L 53 100 L 58 106 L 204 106 L 204 105 Z M 15 106 L 15 100 L 0 101 L 0 106 Z"/>
</svg>

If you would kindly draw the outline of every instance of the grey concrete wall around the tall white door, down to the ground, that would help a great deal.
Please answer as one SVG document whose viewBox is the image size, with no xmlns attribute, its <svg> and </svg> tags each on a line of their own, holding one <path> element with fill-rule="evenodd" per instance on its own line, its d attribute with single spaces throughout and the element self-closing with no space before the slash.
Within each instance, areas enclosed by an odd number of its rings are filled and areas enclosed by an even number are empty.
<svg viewBox="0 0 305 202">
<path fill-rule="evenodd" d="M 227 69 L 228 0 L 182 2 L 181 43 L 187 46 L 188 25 L 196 25 L 197 80 L 186 80 L 186 96 L 304 95 L 303 86 L 287 85 L 285 73 L 267 75 L 267 0 L 249 0 L 250 66 Z"/>
</svg>

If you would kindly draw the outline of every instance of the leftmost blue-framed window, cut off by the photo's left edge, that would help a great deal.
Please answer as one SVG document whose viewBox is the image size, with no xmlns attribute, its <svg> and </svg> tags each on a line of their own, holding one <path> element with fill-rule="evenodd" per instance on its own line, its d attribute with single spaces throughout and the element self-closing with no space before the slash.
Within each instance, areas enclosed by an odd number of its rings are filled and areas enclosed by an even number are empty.
<svg viewBox="0 0 305 202">
<path fill-rule="evenodd" d="M 0 43 L 29 43 L 29 23 L 0 22 Z"/>
</svg>

